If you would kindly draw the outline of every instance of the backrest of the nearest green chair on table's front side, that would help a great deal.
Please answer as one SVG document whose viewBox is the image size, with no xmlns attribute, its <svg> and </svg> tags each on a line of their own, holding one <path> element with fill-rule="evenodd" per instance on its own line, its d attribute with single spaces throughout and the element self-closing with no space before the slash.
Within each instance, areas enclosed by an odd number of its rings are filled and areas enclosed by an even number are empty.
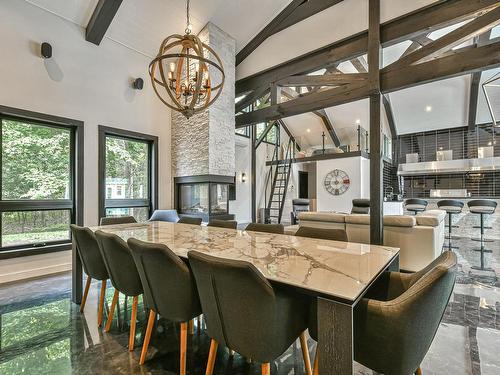
<svg viewBox="0 0 500 375">
<path fill-rule="evenodd" d="M 273 331 L 276 297 L 271 284 L 248 262 L 197 251 L 188 257 L 208 335 L 242 355 L 252 353 Z"/>
</svg>

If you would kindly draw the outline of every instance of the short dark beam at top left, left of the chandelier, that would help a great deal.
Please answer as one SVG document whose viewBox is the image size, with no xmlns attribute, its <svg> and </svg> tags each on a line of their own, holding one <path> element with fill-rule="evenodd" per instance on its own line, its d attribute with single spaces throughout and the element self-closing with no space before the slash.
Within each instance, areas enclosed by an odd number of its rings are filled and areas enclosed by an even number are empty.
<svg viewBox="0 0 500 375">
<path fill-rule="evenodd" d="M 101 43 L 121 3 L 122 0 L 99 0 L 85 30 L 87 42 L 96 45 Z"/>
</svg>

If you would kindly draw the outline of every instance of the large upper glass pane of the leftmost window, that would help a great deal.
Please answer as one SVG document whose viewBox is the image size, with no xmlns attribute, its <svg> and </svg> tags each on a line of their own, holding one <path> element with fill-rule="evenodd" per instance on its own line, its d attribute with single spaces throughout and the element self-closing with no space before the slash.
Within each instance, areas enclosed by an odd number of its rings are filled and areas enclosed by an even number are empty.
<svg viewBox="0 0 500 375">
<path fill-rule="evenodd" d="M 2 120 L 2 199 L 70 199 L 71 132 Z"/>
</svg>

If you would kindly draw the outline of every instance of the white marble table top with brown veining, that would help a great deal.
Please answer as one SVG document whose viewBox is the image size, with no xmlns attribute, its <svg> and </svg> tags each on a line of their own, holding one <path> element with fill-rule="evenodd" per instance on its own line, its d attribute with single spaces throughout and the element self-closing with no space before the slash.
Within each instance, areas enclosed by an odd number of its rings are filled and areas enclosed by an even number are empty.
<svg viewBox="0 0 500 375">
<path fill-rule="evenodd" d="M 186 258 L 190 250 L 252 263 L 270 281 L 313 295 L 356 301 L 399 249 L 189 224 L 147 222 L 93 227 L 127 240 L 167 245 Z"/>
</svg>

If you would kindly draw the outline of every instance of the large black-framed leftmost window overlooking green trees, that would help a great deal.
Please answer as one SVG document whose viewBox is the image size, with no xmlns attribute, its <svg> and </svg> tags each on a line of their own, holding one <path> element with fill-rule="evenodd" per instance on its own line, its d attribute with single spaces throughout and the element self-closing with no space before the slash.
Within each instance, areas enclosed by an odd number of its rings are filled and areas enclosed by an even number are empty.
<svg viewBox="0 0 500 375">
<path fill-rule="evenodd" d="M 70 248 L 81 224 L 83 124 L 0 107 L 0 251 L 9 256 Z M 81 151 L 80 159 L 76 153 Z M 78 204 L 78 207 L 77 207 Z M 3 257 L 3 256 L 2 256 Z"/>
</svg>

